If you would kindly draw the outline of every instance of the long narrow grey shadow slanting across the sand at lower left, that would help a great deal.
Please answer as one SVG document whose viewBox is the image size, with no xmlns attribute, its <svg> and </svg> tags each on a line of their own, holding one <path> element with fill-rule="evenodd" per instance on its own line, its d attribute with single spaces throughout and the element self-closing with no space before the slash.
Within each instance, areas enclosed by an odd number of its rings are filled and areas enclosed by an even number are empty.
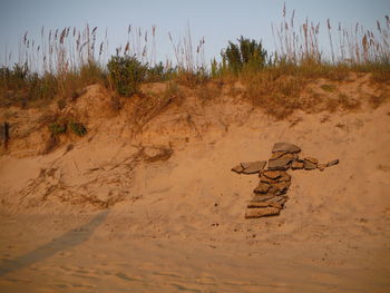
<svg viewBox="0 0 390 293">
<path fill-rule="evenodd" d="M 86 242 L 94 231 L 104 222 L 108 213 L 108 209 L 96 215 L 89 223 L 62 234 L 58 238 L 52 240 L 37 250 L 11 261 L 3 261 L 0 263 L 0 276 L 48 258 L 59 251 L 68 250 Z"/>
</svg>

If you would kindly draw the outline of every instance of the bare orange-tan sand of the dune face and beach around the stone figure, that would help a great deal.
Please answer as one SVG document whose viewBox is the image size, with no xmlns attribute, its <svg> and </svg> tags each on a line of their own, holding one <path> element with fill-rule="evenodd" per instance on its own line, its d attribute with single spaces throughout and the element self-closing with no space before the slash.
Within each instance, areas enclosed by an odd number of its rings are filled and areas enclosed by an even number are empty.
<svg viewBox="0 0 390 293">
<path fill-rule="evenodd" d="M 245 102 L 191 116 L 182 127 L 173 107 L 137 143 L 113 118 L 70 152 L 1 156 L 0 291 L 390 291 L 390 104 L 283 121 Z M 340 164 L 289 170 L 281 215 L 245 219 L 259 179 L 230 169 L 276 141 Z"/>
</svg>

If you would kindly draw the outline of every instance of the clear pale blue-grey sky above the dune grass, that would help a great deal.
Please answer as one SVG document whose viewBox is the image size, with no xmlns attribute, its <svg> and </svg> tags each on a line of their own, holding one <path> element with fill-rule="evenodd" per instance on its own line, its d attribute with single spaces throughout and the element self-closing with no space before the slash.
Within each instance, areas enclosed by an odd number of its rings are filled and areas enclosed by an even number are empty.
<svg viewBox="0 0 390 293">
<path fill-rule="evenodd" d="M 108 29 L 110 48 L 127 41 L 128 25 L 150 30 L 157 27 L 157 59 L 173 57 L 168 31 L 174 38 L 183 36 L 189 23 L 195 40 L 205 38 L 206 59 L 218 56 L 228 40 L 241 35 L 263 40 L 273 51 L 271 23 L 282 20 L 283 3 L 295 10 L 296 21 L 309 17 L 321 22 L 355 22 L 376 28 L 377 19 L 390 14 L 389 0 L 0 0 L 0 61 L 4 48 L 17 50 L 18 40 L 29 31 L 40 40 L 40 30 L 64 27 L 82 28 L 88 22 L 104 35 Z M 14 52 L 17 55 L 18 52 Z"/>
</svg>

